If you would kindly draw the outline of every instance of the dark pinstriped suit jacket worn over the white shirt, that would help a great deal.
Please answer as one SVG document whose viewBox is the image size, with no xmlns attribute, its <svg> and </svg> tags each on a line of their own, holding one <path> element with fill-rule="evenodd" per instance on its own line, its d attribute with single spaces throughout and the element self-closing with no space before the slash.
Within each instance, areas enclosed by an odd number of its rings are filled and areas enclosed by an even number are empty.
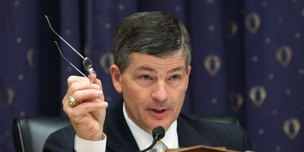
<svg viewBox="0 0 304 152">
<path fill-rule="evenodd" d="M 106 152 L 137 152 L 137 143 L 122 112 L 122 101 L 107 110 L 104 124 Z M 180 114 L 177 119 L 179 146 L 207 145 L 226 147 L 236 151 L 256 151 L 243 127 L 234 124 L 206 122 L 194 116 Z M 44 145 L 44 152 L 75 152 L 75 130 L 72 125 L 52 133 Z M 151 137 L 152 138 L 152 137 Z"/>
</svg>

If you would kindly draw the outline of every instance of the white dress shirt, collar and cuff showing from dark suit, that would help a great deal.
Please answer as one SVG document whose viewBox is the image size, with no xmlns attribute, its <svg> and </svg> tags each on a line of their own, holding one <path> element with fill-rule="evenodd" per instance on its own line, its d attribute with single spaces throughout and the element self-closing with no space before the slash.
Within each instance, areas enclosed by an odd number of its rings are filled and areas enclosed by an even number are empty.
<svg viewBox="0 0 304 152">
<path fill-rule="evenodd" d="M 137 126 L 127 115 L 125 111 L 125 106 L 123 103 L 123 116 L 129 126 L 133 137 L 137 143 L 139 150 L 144 150 L 152 144 L 153 137 L 146 131 L 142 130 Z M 75 136 L 75 151 L 76 152 L 105 152 L 106 151 L 106 135 L 104 140 L 101 141 L 89 141 Z M 175 120 L 169 129 L 167 130 L 165 137 L 161 141 L 169 149 L 179 148 L 178 136 L 177 136 L 177 121 Z"/>
</svg>

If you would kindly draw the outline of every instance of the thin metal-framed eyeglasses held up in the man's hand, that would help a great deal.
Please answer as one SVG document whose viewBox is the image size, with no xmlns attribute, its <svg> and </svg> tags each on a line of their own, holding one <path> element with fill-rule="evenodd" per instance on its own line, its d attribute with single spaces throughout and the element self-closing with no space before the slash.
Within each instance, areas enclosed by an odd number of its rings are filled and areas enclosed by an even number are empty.
<svg viewBox="0 0 304 152">
<path fill-rule="evenodd" d="M 46 15 L 45 15 L 46 16 Z M 88 71 L 89 72 L 89 76 L 87 77 L 86 75 L 84 75 L 80 70 L 78 70 L 70 61 L 68 61 L 64 56 L 63 56 L 63 54 L 61 53 L 61 50 L 60 50 L 60 48 L 59 48 L 59 46 L 58 46 L 58 44 L 57 44 L 57 42 L 56 41 L 54 41 L 55 42 L 55 44 L 56 44 L 56 46 L 58 47 L 58 50 L 59 50 L 59 52 L 60 52 L 60 54 L 61 54 L 61 56 L 63 57 L 63 59 L 64 60 L 66 60 L 67 62 L 69 62 L 82 76 L 84 76 L 84 77 L 86 77 L 86 78 L 89 78 L 89 80 L 91 81 L 91 83 L 94 83 L 94 80 L 96 79 L 96 72 L 93 70 L 93 68 L 92 68 L 92 61 L 91 61 L 91 59 L 90 58 L 88 58 L 88 57 L 83 57 L 78 51 L 76 51 L 76 49 L 73 47 L 73 46 L 71 46 L 69 43 L 67 43 L 55 30 L 53 30 L 53 28 L 52 28 L 52 26 L 51 26 L 51 23 L 49 22 L 49 20 L 48 20 L 48 18 L 47 18 L 47 16 L 46 16 L 46 20 L 47 20 L 47 22 L 48 22 L 48 25 L 49 25 L 49 27 L 51 28 L 51 30 L 65 43 L 65 44 L 67 44 L 68 46 L 70 46 L 81 58 L 82 58 L 82 64 L 83 64 L 83 66 L 84 66 L 84 69 L 86 70 L 86 71 Z"/>
</svg>

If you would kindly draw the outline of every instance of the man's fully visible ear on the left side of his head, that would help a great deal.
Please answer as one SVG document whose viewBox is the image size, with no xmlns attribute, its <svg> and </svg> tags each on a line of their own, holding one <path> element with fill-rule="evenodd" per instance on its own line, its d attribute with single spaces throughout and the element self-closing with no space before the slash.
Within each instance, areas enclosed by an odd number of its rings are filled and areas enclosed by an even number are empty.
<svg viewBox="0 0 304 152">
<path fill-rule="evenodd" d="M 119 67 L 115 64 L 111 65 L 110 67 L 111 76 L 112 76 L 112 82 L 115 90 L 118 93 L 122 93 L 122 74 L 119 71 Z"/>
</svg>

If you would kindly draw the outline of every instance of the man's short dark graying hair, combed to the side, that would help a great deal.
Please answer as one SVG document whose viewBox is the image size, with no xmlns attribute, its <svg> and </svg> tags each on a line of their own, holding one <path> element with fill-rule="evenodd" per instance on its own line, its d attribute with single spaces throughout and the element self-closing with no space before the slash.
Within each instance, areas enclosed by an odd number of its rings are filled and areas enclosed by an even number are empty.
<svg viewBox="0 0 304 152">
<path fill-rule="evenodd" d="M 123 74 L 133 52 L 165 57 L 182 52 L 186 70 L 191 62 L 189 33 L 174 16 L 164 12 L 140 12 L 125 18 L 114 35 L 114 63 Z"/>
</svg>

